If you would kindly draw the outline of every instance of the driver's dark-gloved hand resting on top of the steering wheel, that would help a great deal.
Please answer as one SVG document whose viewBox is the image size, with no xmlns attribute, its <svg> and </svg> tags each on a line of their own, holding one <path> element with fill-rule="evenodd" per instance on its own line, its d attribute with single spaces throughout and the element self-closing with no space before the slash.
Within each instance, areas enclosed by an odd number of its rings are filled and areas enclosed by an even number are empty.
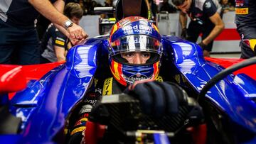
<svg viewBox="0 0 256 144">
<path fill-rule="evenodd" d="M 178 113 L 178 105 L 186 103 L 186 92 L 178 85 L 166 82 L 139 83 L 127 88 L 124 93 L 137 97 L 142 111 L 153 116 Z"/>
</svg>

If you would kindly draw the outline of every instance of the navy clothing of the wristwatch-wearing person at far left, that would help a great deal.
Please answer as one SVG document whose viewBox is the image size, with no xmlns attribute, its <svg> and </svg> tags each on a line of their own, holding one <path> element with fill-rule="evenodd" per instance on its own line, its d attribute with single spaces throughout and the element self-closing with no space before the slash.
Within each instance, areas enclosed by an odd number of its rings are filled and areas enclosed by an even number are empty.
<svg viewBox="0 0 256 144">
<path fill-rule="evenodd" d="M 56 0 L 50 0 L 54 3 Z M 39 63 L 38 35 L 35 19 L 38 11 L 24 0 L 0 2 L 0 63 L 11 64 L 16 51 L 19 65 Z"/>
</svg>

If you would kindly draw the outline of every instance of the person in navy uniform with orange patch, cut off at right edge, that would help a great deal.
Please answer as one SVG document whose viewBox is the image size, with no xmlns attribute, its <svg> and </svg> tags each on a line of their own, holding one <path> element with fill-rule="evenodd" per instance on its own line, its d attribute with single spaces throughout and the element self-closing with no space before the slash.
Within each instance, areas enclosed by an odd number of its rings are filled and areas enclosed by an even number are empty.
<svg viewBox="0 0 256 144">
<path fill-rule="evenodd" d="M 235 23 L 241 38 L 241 58 L 256 55 L 256 3 L 253 0 L 235 1 Z"/>
</svg>

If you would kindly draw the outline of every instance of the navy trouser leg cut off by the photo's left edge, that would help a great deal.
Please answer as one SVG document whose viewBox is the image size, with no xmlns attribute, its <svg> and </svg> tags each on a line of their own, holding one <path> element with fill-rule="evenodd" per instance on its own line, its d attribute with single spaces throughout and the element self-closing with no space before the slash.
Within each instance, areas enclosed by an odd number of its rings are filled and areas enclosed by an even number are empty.
<svg viewBox="0 0 256 144">
<path fill-rule="evenodd" d="M 0 64 L 11 64 L 11 53 L 15 48 L 15 30 L 0 19 L 0 33 Z"/>
</svg>

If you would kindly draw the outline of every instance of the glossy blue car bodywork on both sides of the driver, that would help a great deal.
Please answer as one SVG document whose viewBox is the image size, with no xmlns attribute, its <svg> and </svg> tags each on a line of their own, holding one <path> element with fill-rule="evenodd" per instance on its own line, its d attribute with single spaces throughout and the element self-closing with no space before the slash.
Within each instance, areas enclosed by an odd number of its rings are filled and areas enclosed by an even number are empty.
<svg viewBox="0 0 256 144">
<path fill-rule="evenodd" d="M 166 70 L 181 87 L 191 89 L 194 94 L 223 70 L 204 60 L 201 48 L 195 43 L 164 35 L 162 43 L 161 70 Z M 0 142 L 62 143 L 66 120 L 92 87 L 100 65 L 98 60 L 102 55 L 107 57 L 108 45 L 107 37 L 89 38 L 69 50 L 65 64 L 40 80 L 29 82 L 25 90 L 9 101 L 11 113 L 21 118 L 19 132 L 0 135 Z M 235 143 L 256 143 L 255 97 L 255 80 L 245 74 L 230 74 L 210 89 L 204 101 L 215 127 L 224 136 L 234 137 Z"/>
</svg>

